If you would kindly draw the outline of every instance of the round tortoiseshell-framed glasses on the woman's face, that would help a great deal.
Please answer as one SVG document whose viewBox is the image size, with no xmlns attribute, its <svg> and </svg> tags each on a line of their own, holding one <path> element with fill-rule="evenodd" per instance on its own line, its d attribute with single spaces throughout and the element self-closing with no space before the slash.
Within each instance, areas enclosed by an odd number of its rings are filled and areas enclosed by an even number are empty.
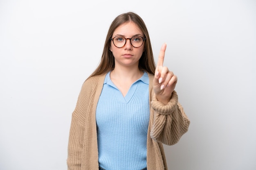
<svg viewBox="0 0 256 170">
<path fill-rule="evenodd" d="M 110 40 L 113 41 L 113 44 L 117 47 L 117 48 L 122 48 L 125 46 L 126 44 L 126 40 L 129 39 L 130 43 L 133 47 L 135 48 L 139 48 L 142 46 L 144 40 L 146 40 L 146 38 L 143 38 L 141 36 L 134 36 L 131 38 L 125 38 L 125 37 L 121 37 L 121 36 L 116 36 L 114 38 L 110 38 Z"/>
</svg>

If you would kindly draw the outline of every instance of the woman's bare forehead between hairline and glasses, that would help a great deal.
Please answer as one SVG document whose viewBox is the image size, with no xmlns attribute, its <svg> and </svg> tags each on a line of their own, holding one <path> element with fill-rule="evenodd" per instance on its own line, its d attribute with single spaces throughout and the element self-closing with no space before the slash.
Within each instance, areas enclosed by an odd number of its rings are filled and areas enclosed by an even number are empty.
<svg viewBox="0 0 256 170">
<path fill-rule="evenodd" d="M 139 27 L 134 22 L 126 22 L 115 29 L 113 36 L 124 35 L 125 37 L 130 37 L 137 34 L 143 35 Z"/>
</svg>

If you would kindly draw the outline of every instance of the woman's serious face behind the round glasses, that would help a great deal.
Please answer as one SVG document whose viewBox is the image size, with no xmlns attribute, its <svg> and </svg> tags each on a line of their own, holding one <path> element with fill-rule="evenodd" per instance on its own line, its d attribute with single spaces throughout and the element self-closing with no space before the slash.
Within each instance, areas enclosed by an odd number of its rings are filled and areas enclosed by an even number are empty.
<svg viewBox="0 0 256 170">
<path fill-rule="evenodd" d="M 136 24 L 134 24 L 133 22 L 128 22 L 121 24 L 119 27 L 117 27 L 112 35 L 112 38 L 116 36 L 132 38 L 135 35 L 145 38 L 144 34 L 137 27 Z M 112 51 L 113 56 L 115 57 L 115 66 L 138 67 L 139 59 L 144 51 L 145 42 L 143 42 L 142 46 L 135 48 L 132 46 L 130 41 L 136 41 L 133 43 L 135 44 L 137 43 L 138 39 L 126 39 L 126 44 L 122 48 L 116 47 L 113 44 L 113 41 L 111 41 L 110 50 Z"/>
</svg>

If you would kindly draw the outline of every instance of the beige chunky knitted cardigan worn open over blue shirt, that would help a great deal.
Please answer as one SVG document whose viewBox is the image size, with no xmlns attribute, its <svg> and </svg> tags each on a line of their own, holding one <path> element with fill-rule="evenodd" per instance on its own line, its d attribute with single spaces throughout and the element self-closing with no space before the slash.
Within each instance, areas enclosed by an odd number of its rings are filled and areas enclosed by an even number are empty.
<svg viewBox="0 0 256 170">
<path fill-rule="evenodd" d="M 106 74 L 93 76 L 81 88 L 72 113 L 68 143 L 68 170 L 99 170 L 96 107 Z M 167 105 L 157 101 L 149 74 L 150 122 L 147 136 L 147 169 L 167 170 L 163 144 L 173 145 L 188 131 L 189 119 L 174 91 Z"/>
</svg>

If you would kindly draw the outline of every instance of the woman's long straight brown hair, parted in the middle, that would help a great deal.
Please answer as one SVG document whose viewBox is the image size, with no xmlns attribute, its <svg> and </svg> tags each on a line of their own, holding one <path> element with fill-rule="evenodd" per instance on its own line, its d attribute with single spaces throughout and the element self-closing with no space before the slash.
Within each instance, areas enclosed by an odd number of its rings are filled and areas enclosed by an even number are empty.
<svg viewBox="0 0 256 170">
<path fill-rule="evenodd" d="M 110 25 L 103 48 L 103 53 L 101 56 L 101 62 L 99 63 L 99 66 L 96 68 L 96 70 L 89 76 L 89 78 L 92 76 L 105 74 L 115 68 L 115 58 L 110 51 L 110 38 L 112 37 L 115 29 L 118 26 L 127 22 L 133 22 L 134 24 L 136 24 L 138 28 L 142 31 L 142 33 L 144 33 L 144 36 L 146 38 L 144 52 L 139 59 L 139 70 L 146 71 L 150 74 L 155 73 L 155 61 L 146 25 L 139 15 L 133 12 L 128 12 L 118 15 Z"/>
</svg>

